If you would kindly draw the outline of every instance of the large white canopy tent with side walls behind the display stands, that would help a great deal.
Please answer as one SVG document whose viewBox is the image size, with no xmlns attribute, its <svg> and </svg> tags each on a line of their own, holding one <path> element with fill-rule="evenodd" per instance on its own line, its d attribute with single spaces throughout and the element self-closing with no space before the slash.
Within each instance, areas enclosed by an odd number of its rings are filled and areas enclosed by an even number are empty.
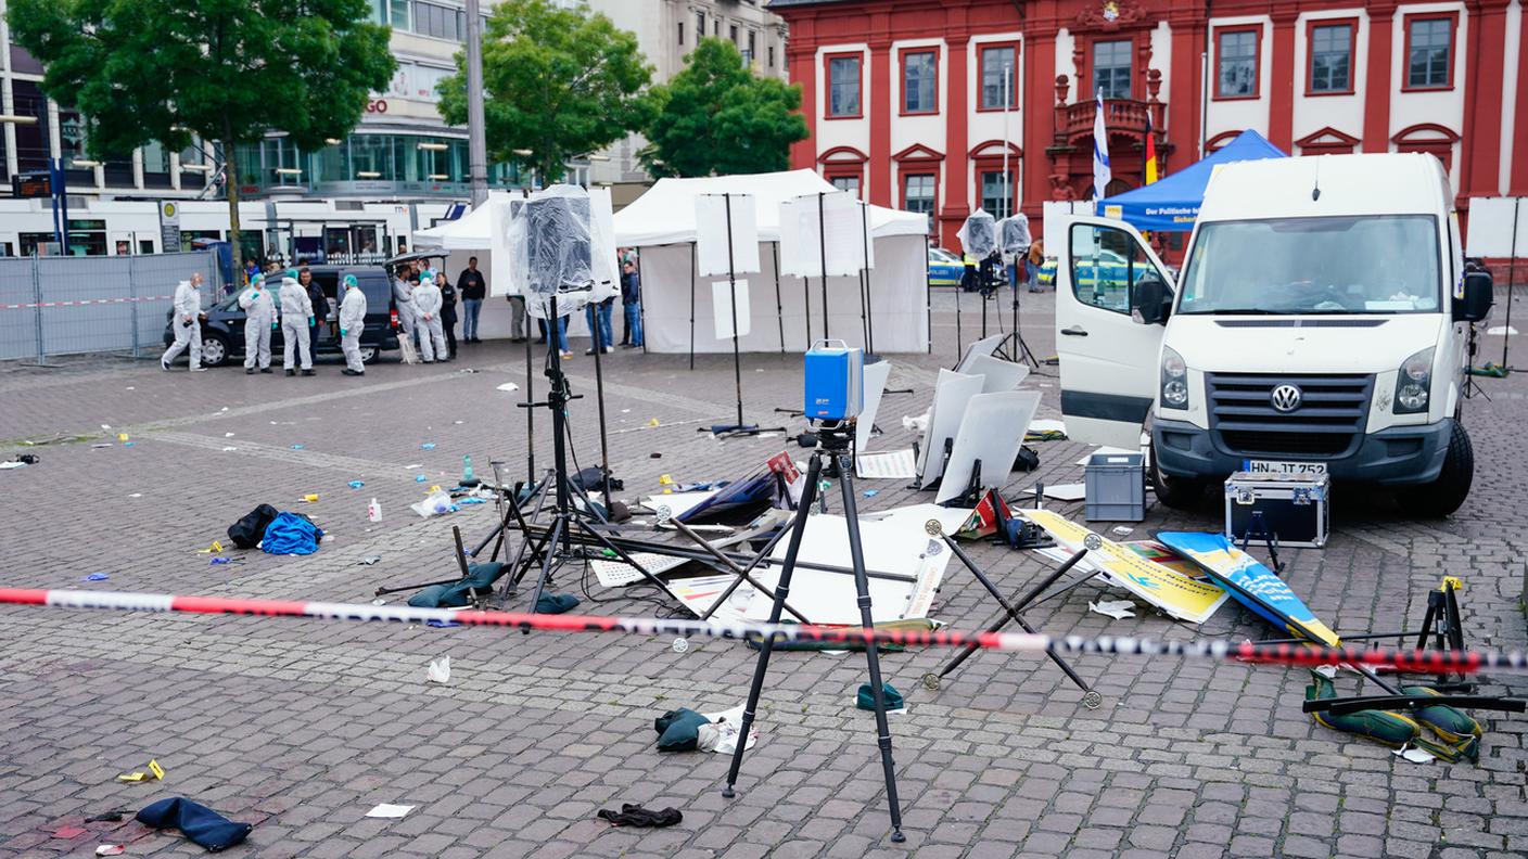
<svg viewBox="0 0 1528 859">
<path fill-rule="evenodd" d="M 810 170 L 660 179 L 642 197 L 616 212 L 616 245 L 639 249 L 642 271 L 642 327 L 649 352 L 730 352 L 730 338 L 717 338 L 712 326 L 711 283 L 697 277 L 695 199 L 701 194 L 752 194 L 756 206 L 762 271 L 738 275 L 749 281 L 752 330 L 740 338 L 743 352 L 804 350 L 822 336 L 819 278 L 779 275 L 779 205 L 785 200 L 833 193 L 836 188 Z M 924 352 L 927 316 L 927 217 L 869 206 L 869 234 L 876 267 L 869 271 L 869 306 L 877 352 Z M 828 278 L 828 336 L 868 347 L 860 321 L 860 280 Z"/>
</svg>

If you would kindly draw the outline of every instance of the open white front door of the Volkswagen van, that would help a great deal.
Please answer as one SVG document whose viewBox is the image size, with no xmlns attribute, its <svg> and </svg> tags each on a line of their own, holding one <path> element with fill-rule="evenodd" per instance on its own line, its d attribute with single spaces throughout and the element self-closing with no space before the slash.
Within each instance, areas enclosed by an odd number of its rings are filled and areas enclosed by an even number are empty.
<svg viewBox="0 0 1528 859">
<path fill-rule="evenodd" d="M 1157 283 L 1151 283 L 1155 280 Z M 1157 397 L 1174 281 L 1122 220 L 1070 217 L 1056 264 L 1056 353 L 1067 437 L 1137 449 Z M 1154 297 L 1152 307 L 1140 304 Z"/>
</svg>

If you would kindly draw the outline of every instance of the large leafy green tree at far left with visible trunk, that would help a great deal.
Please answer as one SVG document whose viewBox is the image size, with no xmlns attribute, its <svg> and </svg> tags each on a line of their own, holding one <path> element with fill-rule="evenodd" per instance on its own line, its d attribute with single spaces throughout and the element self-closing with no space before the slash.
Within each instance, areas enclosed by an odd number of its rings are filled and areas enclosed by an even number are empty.
<svg viewBox="0 0 1528 859">
<path fill-rule="evenodd" d="M 86 118 L 93 157 L 193 135 L 223 147 L 234 266 L 237 145 L 286 131 L 301 150 L 348 135 L 397 69 L 368 0 L 11 0 L 43 90 Z"/>
</svg>

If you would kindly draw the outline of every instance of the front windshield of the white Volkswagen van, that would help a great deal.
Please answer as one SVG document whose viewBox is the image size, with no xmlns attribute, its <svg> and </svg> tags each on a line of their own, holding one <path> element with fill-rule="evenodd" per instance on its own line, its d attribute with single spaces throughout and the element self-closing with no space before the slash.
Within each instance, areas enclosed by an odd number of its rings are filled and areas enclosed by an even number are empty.
<svg viewBox="0 0 1528 859">
<path fill-rule="evenodd" d="M 1432 216 L 1206 223 L 1178 313 L 1436 313 L 1441 280 Z"/>
</svg>

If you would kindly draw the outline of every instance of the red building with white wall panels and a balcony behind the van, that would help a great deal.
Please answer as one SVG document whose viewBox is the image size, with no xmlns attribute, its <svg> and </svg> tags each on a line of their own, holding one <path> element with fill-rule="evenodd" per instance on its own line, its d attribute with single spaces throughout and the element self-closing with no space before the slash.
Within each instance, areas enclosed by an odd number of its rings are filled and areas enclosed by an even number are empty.
<svg viewBox="0 0 1528 859">
<path fill-rule="evenodd" d="M 792 150 L 874 203 L 966 216 L 1085 199 L 1094 95 L 1109 193 L 1244 128 L 1291 154 L 1429 151 L 1459 194 L 1528 194 L 1520 0 L 772 0 L 811 136 Z M 1007 165 L 1007 168 L 1005 168 Z"/>
</svg>

